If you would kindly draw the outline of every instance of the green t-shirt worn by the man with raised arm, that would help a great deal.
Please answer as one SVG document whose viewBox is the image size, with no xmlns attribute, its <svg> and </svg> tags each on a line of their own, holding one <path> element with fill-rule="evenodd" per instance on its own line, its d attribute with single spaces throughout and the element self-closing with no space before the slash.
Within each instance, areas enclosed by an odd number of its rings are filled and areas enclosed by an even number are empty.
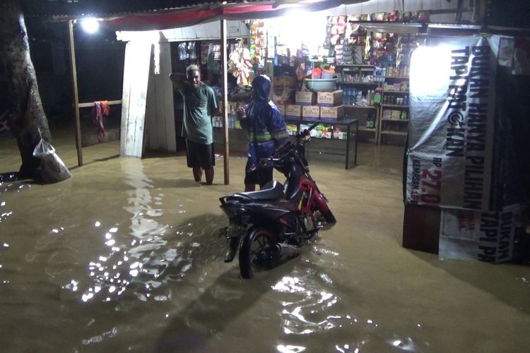
<svg viewBox="0 0 530 353">
<path fill-rule="evenodd" d="M 216 93 L 206 83 L 198 88 L 184 85 L 180 93 L 184 97 L 182 136 L 194 143 L 213 143 L 211 113 L 217 111 Z"/>
</svg>

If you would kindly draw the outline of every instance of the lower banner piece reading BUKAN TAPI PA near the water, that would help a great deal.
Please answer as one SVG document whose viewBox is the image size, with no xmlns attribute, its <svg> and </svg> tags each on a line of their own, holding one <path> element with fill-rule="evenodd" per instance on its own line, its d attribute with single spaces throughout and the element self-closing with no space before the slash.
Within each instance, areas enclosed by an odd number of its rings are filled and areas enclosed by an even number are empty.
<svg viewBox="0 0 530 353">
<path fill-rule="evenodd" d="M 519 213 L 519 205 L 507 206 L 497 213 L 442 209 L 438 256 L 489 263 L 512 260 Z"/>
</svg>

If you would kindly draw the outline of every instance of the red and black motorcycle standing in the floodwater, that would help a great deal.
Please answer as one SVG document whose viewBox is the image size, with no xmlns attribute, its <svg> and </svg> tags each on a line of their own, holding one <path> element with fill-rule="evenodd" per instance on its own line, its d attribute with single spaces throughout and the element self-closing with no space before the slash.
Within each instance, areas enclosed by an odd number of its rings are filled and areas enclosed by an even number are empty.
<svg viewBox="0 0 530 353">
<path fill-rule="evenodd" d="M 285 175 L 285 185 L 271 181 L 259 191 L 219 199 L 230 220 L 228 227 L 220 229 L 220 236 L 227 239 L 225 262 L 232 261 L 239 250 L 243 278 L 252 278 L 253 270 L 268 270 L 297 256 L 300 246 L 322 227 L 318 214 L 327 223 L 336 222 L 305 160 L 304 143 L 318 124 L 297 133 L 295 142 L 283 145 L 273 157 L 261 160 L 261 167 L 274 167 Z"/>
</svg>

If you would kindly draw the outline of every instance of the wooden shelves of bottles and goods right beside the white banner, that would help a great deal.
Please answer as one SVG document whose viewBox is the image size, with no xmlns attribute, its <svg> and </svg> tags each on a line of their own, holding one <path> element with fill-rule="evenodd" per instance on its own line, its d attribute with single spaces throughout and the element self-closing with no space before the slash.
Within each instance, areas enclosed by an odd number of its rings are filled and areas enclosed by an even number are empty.
<svg viewBox="0 0 530 353">
<path fill-rule="evenodd" d="M 388 89 L 394 84 L 396 88 L 399 85 L 399 89 Z M 387 136 L 407 136 L 409 121 L 408 76 L 386 76 L 383 87 L 377 124 L 379 144 L 386 143 Z"/>
</svg>

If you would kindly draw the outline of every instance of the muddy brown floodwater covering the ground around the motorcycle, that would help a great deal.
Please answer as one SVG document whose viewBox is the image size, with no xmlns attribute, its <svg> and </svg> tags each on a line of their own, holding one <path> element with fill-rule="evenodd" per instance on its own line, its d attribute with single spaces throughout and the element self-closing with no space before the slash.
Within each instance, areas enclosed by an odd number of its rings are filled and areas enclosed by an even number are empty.
<svg viewBox="0 0 530 353">
<path fill-rule="evenodd" d="M 1 352 L 528 352 L 530 268 L 442 261 L 401 246 L 403 148 L 359 146 L 358 166 L 310 161 L 334 227 L 292 261 L 242 280 L 223 262 L 218 198 L 183 156 L 119 157 L 55 136 L 73 177 L 11 181 L 0 140 Z M 280 174 L 276 179 L 283 181 Z"/>
</svg>

